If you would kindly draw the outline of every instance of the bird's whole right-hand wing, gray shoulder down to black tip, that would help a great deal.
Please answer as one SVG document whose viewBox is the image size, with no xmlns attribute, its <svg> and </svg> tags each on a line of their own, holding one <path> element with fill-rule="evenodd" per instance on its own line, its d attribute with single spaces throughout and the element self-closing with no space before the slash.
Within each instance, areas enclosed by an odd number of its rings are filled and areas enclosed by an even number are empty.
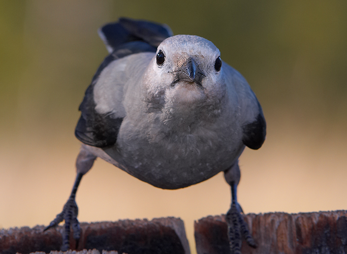
<svg viewBox="0 0 347 254">
<path fill-rule="evenodd" d="M 259 149 L 266 136 L 266 121 L 262 107 L 244 77 L 232 67 L 226 69 L 227 80 L 231 80 L 238 94 L 242 142 L 251 149 Z"/>
</svg>

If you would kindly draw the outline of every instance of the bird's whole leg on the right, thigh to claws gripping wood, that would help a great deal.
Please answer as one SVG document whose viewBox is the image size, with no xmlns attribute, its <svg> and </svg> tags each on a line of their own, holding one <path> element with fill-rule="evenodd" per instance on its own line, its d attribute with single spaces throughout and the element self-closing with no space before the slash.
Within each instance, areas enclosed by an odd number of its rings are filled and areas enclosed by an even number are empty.
<svg viewBox="0 0 347 254">
<path fill-rule="evenodd" d="M 251 234 L 248 226 L 243 219 L 243 211 L 237 203 L 237 185 L 240 181 L 240 168 L 236 162 L 230 169 L 224 172 L 226 181 L 231 186 L 231 207 L 226 215 L 228 224 L 228 237 L 230 241 L 230 250 L 233 254 L 241 254 L 242 237 L 245 238 L 249 246 L 256 248 L 257 244 Z"/>
</svg>

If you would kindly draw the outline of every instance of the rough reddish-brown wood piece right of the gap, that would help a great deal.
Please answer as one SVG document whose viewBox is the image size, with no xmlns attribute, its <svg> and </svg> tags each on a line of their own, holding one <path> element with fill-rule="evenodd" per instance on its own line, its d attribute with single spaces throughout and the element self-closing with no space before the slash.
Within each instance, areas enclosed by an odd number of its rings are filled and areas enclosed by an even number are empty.
<svg viewBox="0 0 347 254">
<path fill-rule="evenodd" d="M 247 214 L 245 220 L 258 244 L 242 243 L 243 254 L 347 253 L 347 211 Z M 195 221 L 198 254 L 229 254 L 225 216 Z"/>
</svg>

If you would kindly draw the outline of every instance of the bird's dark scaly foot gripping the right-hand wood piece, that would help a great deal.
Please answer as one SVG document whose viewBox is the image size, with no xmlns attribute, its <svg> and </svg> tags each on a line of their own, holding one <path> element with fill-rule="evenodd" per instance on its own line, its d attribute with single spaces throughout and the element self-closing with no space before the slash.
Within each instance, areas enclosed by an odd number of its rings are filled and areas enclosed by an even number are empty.
<svg viewBox="0 0 347 254">
<path fill-rule="evenodd" d="M 245 238 L 249 246 L 256 248 L 257 244 L 249 233 L 248 226 L 243 219 L 243 212 L 238 203 L 233 202 L 226 215 L 228 223 L 228 237 L 232 254 L 241 254 L 242 237 Z"/>
</svg>

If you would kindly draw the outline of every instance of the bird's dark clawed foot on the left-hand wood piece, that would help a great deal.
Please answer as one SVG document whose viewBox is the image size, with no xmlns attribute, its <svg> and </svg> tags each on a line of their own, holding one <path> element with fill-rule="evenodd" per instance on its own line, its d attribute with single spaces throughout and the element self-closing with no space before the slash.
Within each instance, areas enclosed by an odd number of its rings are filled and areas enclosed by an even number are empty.
<svg viewBox="0 0 347 254">
<path fill-rule="evenodd" d="M 56 215 L 55 219 L 51 221 L 44 231 L 58 226 L 58 224 L 65 220 L 65 230 L 62 235 L 62 251 L 67 251 L 70 248 L 70 227 L 74 231 L 74 239 L 76 240 L 76 248 L 78 247 L 78 240 L 81 236 L 81 228 L 77 219 L 78 207 L 74 197 L 70 197 L 68 202 L 64 205 L 62 212 Z"/>
</svg>

